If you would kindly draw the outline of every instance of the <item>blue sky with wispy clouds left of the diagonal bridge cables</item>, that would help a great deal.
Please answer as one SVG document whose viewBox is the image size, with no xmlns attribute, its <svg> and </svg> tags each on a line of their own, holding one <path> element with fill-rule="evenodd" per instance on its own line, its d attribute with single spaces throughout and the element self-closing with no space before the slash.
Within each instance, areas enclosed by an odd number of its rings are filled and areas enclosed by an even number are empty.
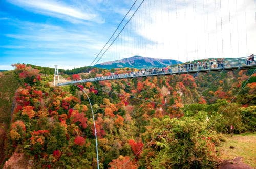
<svg viewBox="0 0 256 169">
<path fill-rule="evenodd" d="M 132 1 L 0 1 L 0 69 L 89 65 Z"/>
</svg>

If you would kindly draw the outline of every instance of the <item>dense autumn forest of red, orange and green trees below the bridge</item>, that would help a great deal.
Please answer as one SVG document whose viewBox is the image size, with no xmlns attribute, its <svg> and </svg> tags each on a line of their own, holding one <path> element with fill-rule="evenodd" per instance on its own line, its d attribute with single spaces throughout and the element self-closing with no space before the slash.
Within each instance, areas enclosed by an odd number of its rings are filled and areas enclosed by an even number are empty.
<svg viewBox="0 0 256 169">
<path fill-rule="evenodd" d="M 231 125 L 234 133 L 255 132 L 253 69 L 53 87 L 53 70 L 14 66 L 0 74 L 13 82 L 0 105 L 9 116 L 0 117 L 2 165 L 16 156 L 25 168 L 97 168 L 94 120 L 100 168 L 216 168 L 216 147 Z M 113 71 L 131 69 L 60 72 L 72 80 Z"/>
</svg>

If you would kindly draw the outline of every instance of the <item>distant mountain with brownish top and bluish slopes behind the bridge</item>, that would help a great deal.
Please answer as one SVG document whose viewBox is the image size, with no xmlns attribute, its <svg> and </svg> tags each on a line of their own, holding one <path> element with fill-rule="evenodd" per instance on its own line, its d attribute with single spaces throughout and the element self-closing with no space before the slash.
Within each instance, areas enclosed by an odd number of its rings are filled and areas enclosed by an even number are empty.
<svg viewBox="0 0 256 169">
<path fill-rule="evenodd" d="M 94 65 L 98 68 L 112 69 L 112 68 L 150 68 L 150 67 L 164 67 L 166 65 L 174 65 L 182 63 L 173 59 L 157 59 L 157 58 L 148 58 L 141 56 L 133 56 L 130 58 L 124 58 L 121 60 L 104 62 L 101 64 Z"/>
</svg>

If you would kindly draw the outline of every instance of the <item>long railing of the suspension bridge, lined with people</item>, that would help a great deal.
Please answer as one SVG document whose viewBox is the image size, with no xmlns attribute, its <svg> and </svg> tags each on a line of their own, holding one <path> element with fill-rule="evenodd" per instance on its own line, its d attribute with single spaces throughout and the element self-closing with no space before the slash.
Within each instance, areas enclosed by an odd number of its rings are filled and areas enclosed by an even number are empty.
<svg viewBox="0 0 256 169">
<path fill-rule="evenodd" d="M 211 71 L 211 70 L 223 70 L 227 68 L 242 68 L 246 66 L 255 65 L 254 58 L 242 57 L 242 58 L 230 58 L 230 59 L 219 59 L 210 60 L 208 62 L 197 62 L 197 63 L 185 63 L 176 66 L 167 66 L 163 68 L 152 68 L 152 69 L 142 69 L 139 71 L 127 72 L 125 74 L 115 74 L 111 76 L 101 76 L 90 79 L 83 79 L 75 82 L 65 83 L 66 85 L 79 82 L 89 82 L 89 81 L 101 81 L 101 80 L 112 80 L 121 78 L 132 78 L 132 77 L 146 77 L 153 75 L 167 75 L 167 74 L 179 74 L 179 73 L 196 73 L 200 71 Z"/>
</svg>

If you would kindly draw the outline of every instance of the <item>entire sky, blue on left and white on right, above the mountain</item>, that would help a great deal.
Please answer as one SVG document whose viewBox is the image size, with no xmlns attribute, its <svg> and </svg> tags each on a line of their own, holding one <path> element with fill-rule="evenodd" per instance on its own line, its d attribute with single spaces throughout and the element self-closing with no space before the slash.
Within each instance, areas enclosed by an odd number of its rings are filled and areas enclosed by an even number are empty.
<svg viewBox="0 0 256 169">
<path fill-rule="evenodd" d="M 133 2 L 0 1 L 0 70 L 13 63 L 90 65 Z M 100 62 L 132 55 L 182 62 L 245 57 L 255 46 L 255 0 L 145 0 Z"/>
</svg>

